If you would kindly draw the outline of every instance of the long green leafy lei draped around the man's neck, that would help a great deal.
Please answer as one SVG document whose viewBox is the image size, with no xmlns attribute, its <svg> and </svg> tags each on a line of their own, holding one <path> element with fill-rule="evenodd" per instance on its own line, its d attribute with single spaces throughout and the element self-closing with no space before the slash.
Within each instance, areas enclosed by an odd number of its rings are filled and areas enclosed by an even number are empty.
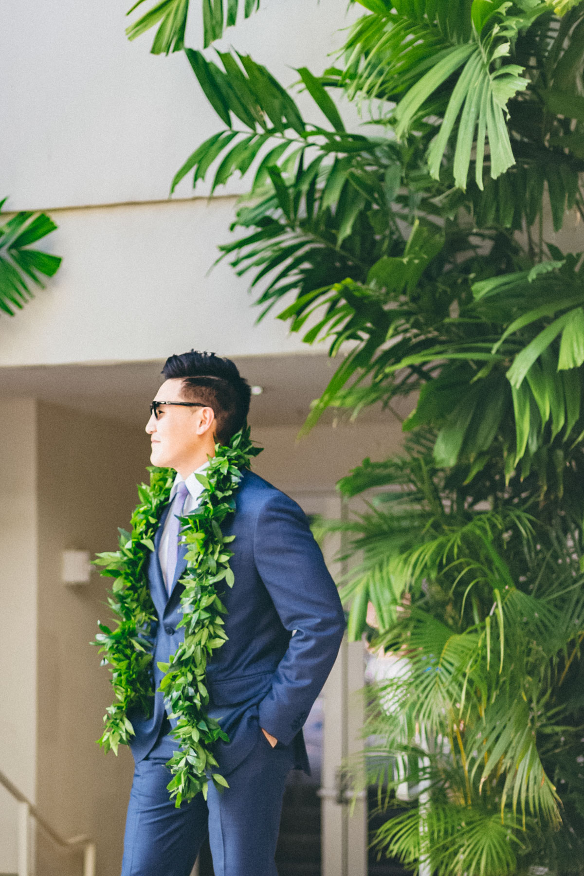
<svg viewBox="0 0 584 876">
<path fill-rule="evenodd" d="M 185 640 L 168 663 L 159 663 L 165 673 L 160 690 L 167 709 L 178 718 L 172 736 L 180 747 L 167 763 L 172 772 L 168 785 L 177 807 L 192 800 L 201 791 L 207 799 L 208 781 L 228 787 L 215 770 L 217 761 L 212 746 L 218 739 L 229 741 L 219 724 L 207 715 L 209 702 L 206 685 L 207 663 L 227 640 L 222 615 L 226 613 L 220 598 L 222 583 L 232 587 L 233 571 L 227 547 L 235 536 L 223 536 L 223 520 L 235 510 L 237 486 L 243 470 L 250 468 L 250 457 L 261 448 L 250 442 L 250 429 L 236 433 L 229 445 L 215 445 L 205 474 L 197 474 L 204 490 L 200 504 L 191 514 L 181 517 L 181 540 L 186 544 L 186 569 L 180 578 L 183 591 L 180 605 Z M 109 665 L 114 703 L 106 710 L 102 748 L 117 753 L 119 745 L 128 745 L 134 729 L 128 713 L 138 710 L 150 715 L 153 675 L 151 622 L 157 619 L 148 584 L 148 561 L 154 550 L 154 534 L 174 483 L 172 469 L 149 468 L 150 485 L 138 487 L 140 504 L 131 517 L 131 532 L 120 529 L 119 550 L 98 554 L 95 564 L 100 573 L 114 579 L 109 607 L 117 620 L 115 629 L 100 623 L 95 645 L 103 654 L 102 665 Z"/>
</svg>

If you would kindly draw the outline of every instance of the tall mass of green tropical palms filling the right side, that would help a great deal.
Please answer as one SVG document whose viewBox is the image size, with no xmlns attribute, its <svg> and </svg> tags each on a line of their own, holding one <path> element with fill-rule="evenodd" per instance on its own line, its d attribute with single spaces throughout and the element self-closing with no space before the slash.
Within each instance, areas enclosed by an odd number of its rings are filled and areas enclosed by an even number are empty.
<svg viewBox="0 0 584 876">
<path fill-rule="evenodd" d="M 349 632 L 395 668 L 367 761 L 409 803 L 380 850 L 581 873 L 584 275 L 546 238 L 584 218 L 584 4 L 361 4 L 335 65 L 298 71 L 320 124 L 248 56 L 187 49 L 222 128 L 173 185 L 250 174 L 221 258 L 343 354 L 306 429 L 414 399 L 406 455 L 340 484 L 369 501 L 342 525 Z M 203 4 L 206 44 L 235 8 Z M 381 134 L 346 130 L 340 92 Z"/>
</svg>

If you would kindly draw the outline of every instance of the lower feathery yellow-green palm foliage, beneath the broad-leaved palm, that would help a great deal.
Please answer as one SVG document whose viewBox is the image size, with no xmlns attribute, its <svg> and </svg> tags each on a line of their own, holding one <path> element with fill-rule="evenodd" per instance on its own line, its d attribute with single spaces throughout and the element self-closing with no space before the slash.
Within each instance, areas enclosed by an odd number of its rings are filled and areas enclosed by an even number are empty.
<svg viewBox="0 0 584 876">
<path fill-rule="evenodd" d="M 367 775 L 381 809 L 396 792 L 400 809 L 410 800 L 377 842 L 445 876 L 580 872 L 581 446 L 570 502 L 543 512 L 536 474 L 505 487 L 493 455 L 468 482 L 468 468 L 436 466 L 432 445 L 415 434 L 406 456 L 365 461 L 340 484 L 349 497 L 389 487 L 343 526 L 362 557 L 343 594 L 350 632 L 372 604 L 369 636 L 394 655 L 370 711 Z"/>
</svg>

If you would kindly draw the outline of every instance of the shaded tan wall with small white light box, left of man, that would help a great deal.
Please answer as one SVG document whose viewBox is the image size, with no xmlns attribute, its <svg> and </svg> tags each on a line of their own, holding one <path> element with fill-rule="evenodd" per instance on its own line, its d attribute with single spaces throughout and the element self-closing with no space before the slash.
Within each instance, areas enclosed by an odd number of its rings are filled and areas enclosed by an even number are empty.
<svg viewBox="0 0 584 876">
<path fill-rule="evenodd" d="M 116 548 L 144 476 L 143 430 L 39 404 L 39 737 L 37 797 L 41 813 L 66 837 L 97 842 L 98 876 L 116 876 L 132 761 L 123 749 L 106 757 L 97 745 L 111 702 L 109 674 L 94 639 L 108 583 L 92 573 L 87 586 L 60 583 L 66 548 Z M 79 858 L 65 858 L 39 837 L 39 876 L 79 876 Z"/>
</svg>

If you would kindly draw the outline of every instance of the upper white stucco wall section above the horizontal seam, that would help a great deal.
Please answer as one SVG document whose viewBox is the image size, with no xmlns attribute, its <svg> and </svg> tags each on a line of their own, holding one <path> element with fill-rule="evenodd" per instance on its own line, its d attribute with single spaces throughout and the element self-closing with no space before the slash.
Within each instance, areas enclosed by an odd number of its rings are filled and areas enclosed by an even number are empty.
<svg viewBox="0 0 584 876">
<path fill-rule="evenodd" d="M 154 31 L 128 42 L 130 5 L 3 0 L 0 167 L 11 208 L 165 199 L 179 166 L 223 127 L 184 53 L 151 55 Z M 186 44 L 201 48 L 200 0 L 191 6 Z M 250 53 L 290 84 L 294 67 L 320 73 L 332 62 L 346 10 L 346 0 L 262 0 L 219 45 Z M 185 181 L 179 194 L 191 191 Z"/>
</svg>

